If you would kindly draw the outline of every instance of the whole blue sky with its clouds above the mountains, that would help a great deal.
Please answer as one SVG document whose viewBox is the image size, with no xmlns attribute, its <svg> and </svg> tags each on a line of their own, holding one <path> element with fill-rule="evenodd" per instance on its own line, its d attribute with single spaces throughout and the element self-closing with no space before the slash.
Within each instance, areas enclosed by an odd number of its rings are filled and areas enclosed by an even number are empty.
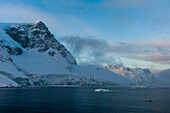
<svg viewBox="0 0 170 113">
<path fill-rule="evenodd" d="M 169 0 L 0 0 L 0 22 L 37 20 L 80 65 L 170 68 Z"/>
</svg>

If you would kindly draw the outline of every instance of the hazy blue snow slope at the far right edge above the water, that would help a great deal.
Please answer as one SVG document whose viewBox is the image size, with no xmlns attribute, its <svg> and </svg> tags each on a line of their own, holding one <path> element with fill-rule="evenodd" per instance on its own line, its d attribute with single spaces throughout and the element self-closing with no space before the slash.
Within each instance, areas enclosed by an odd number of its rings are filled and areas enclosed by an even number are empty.
<svg viewBox="0 0 170 113">
<path fill-rule="evenodd" d="M 162 87 L 170 87 L 170 69 L 164 70 L 157 74 L 157 80 Z"/>
</svg>

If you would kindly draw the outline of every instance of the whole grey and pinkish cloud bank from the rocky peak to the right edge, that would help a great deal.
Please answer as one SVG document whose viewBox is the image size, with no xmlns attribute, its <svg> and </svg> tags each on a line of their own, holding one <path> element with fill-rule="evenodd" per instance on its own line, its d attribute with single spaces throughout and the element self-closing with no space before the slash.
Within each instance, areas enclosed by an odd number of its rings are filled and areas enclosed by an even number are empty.
<svg viewBox="0 0 170 113">
<path fill-rule="evenodd" d="M 60 40 L 80 63 L 123 65 L 115 56 L 158 64 L 169 64 L 170 62 L 169 40 L 157 41 L 157 43 L 154 41 L 108 43 L 101 39 L 80 36 L 65 36 Z"/>
</svg>

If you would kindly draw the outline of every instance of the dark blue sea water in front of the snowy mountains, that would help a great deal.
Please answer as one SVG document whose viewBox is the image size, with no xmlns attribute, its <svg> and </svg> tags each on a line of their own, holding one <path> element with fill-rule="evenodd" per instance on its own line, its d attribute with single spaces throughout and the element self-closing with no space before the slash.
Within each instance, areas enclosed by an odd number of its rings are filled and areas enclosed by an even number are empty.
<svg viewBox="0 0 170 113">
<path fill-rule="evenodd" d="M 96 88 L 101 87 L 1 88 L 0 113 L 170 113 L 169 88 Z"/>
</svg>

